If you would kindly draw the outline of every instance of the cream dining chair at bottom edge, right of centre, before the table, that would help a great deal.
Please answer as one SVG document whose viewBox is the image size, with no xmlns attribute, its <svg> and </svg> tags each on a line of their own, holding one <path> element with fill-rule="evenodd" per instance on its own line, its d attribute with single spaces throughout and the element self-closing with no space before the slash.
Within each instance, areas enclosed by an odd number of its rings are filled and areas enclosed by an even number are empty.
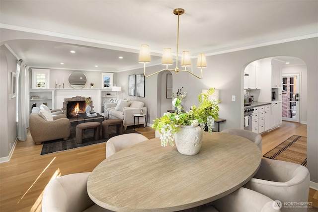
<svg viewBox="0 0 318 212">
<path fill-rule="evenodd" d="M 274 203 L 274 207 L 273 207 Z M 279 212 L 275 202 L 255 191 L 239 188 L 235 192 L 204 206 L 200 212 Z"/>
</svg>

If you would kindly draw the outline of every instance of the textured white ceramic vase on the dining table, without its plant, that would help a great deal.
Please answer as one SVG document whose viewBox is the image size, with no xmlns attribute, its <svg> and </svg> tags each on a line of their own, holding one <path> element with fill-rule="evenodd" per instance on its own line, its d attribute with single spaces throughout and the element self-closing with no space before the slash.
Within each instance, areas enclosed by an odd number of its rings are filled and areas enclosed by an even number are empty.
<svg viewBox="0 0 318 212">
<path fill-rule="evenodd" d="M 203 132 L 199 126 L 182 126 L 174 135 L 178 152 L 186 155 L 197 154 L 202 145 Z"/>
</svg>

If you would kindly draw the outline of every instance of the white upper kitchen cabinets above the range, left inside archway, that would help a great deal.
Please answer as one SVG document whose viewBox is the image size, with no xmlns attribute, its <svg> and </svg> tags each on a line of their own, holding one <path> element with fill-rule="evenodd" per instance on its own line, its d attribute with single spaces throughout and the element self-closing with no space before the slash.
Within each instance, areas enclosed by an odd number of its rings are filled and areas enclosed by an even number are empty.
<svg viewBox="0 0 318 212">
<path fill-rule="evenodd" d="M 261 68 L 256 65 L 248 65 L 244 71 L 244 89 L 260 89 Z"/>
</svg>

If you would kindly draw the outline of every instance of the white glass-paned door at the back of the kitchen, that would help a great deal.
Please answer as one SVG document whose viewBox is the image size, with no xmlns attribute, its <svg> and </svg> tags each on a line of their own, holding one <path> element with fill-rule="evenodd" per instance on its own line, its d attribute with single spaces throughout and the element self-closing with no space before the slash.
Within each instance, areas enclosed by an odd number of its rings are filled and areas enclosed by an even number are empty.
<svg viewBox="0 0 318 212">
<path fill-rule="evenodd" d="M 299 122 L 299 78 L 299 73 L 283 73 L 282 119 L 285 121 Z"/>
</svg>

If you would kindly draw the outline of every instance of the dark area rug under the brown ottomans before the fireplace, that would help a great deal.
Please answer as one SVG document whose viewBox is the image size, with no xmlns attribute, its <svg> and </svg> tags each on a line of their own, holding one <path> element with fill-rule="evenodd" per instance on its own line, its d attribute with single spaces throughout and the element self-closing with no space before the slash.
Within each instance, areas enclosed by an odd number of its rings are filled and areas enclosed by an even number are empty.
<svg viewBox="0 0 318 212">
<path fill-rule="evenodd" d="M 110 131 L 109 138 L 116 136 L 116 127 L 115 126 L 110 126 L 109 131 Z M 89 145 L 103 143 L 103 142 L 106 142 L 108 140 L 108 139 L 103 139 L 102 133 L 100 132 L 100 140 L 95 141 L 93 138 L 94 130 L 88 129 L 88 130 L 84 131 L 83 143 L 77 143 L 75 132 L 76 132 L 76 127 L 73 126 L 73 127 L 71 127 L 71 136 L 68 140 L 63 141 L 63 139 L 58 139 L 58 140 L 54 140 L 54 141 L 43 142 L 43 146 L 42 146 L 42 150 L 41 150 L 40 155 L 51 154 L 51 153 L 55 153 L 55 152 L 85 147 L 85 146 L 89 146 Z M 135 131 L 134 129 L 129 129 L 129 128 L 127 130 L 123 130 L 123 134 L 127 134 L 127 133 L 138 133 L 138 132 Z"/>
</svg>

